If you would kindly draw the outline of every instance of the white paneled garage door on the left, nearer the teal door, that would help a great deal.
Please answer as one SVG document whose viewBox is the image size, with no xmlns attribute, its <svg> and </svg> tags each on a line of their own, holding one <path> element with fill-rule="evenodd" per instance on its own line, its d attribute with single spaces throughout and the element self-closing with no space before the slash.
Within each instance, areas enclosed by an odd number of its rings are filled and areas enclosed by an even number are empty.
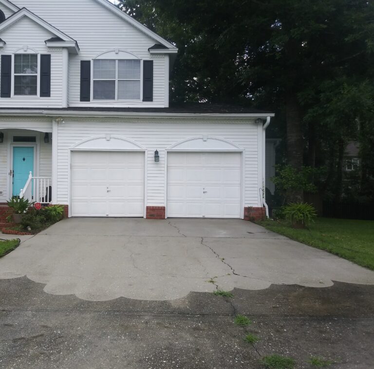
<svg viewBox="0 0 374 369">
<path fill-rule="evenodd" d="M 73 152 L 72 216 L 143 216 L 144 155 Z"/>
</svg>

